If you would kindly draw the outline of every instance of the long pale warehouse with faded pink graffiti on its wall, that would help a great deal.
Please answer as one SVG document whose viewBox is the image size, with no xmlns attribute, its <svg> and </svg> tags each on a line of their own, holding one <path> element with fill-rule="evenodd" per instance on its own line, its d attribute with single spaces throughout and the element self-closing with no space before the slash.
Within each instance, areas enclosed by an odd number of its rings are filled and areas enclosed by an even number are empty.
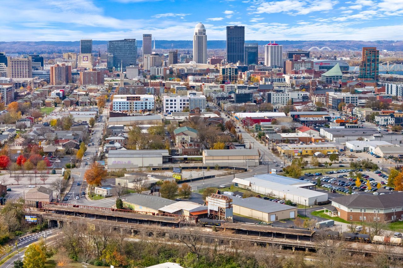
<svg viewBox="0 0 403 268">
<path fill-rule="evenodd" d="M 168 150 L 109 150 L 108 168 L 161 167 Z"/>
</svg>

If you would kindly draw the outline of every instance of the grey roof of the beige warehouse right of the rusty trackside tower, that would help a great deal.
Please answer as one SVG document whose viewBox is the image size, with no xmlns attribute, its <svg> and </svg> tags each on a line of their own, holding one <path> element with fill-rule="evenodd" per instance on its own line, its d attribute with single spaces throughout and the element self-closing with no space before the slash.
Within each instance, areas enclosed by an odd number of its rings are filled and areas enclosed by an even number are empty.
<svg viewBox="0 0 403 268">
<path fill-rule="evenodd" d="M 242 206 L 244 208 L 257 210 L 257 211 L 264 212 L 264 213 L 272 213 L 272 212 L 276 212 L 276 211 L 297 208 L 295 206 L 280 204 L 277 202 L 273 202 L 270 200 L 264 200 L 262 198 L 257 198 L 257 197 L 242 198 L 242 197 L 230 196 L 228 194 L 224 194 L 224 196 L 231 197 L 232 204 L 234 204 L 236 206 Z"/>
</svg>

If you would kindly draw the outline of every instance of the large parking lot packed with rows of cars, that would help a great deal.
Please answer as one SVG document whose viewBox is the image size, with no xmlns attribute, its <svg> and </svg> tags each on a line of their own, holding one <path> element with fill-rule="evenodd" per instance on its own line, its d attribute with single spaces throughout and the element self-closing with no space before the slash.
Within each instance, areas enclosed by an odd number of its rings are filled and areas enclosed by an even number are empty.
<svg viewBox="0 0 403 268">
<path fill-rule="evenodd" d="M 383 174 L 380 171 L 370 171 L 369 169 L 359 169 L 357 172 L 360 172 L 363 176 L 361 180 L 361 185 L 359 187 L 356 186 L 355 181 L 355 173 L 350 174 L 353 171 L 352 169 L 340 169 L 334 171 L 326 171 L 325 174 L 315 173 L 308 174 L 305 173 L 303 179 L 305 181 L 311 181 L 316 183 L 318 178 L 321 181 L 322 187 L 339 191 L 339 192 L 349 192 L 349 187 L 351 186 L 353 193 L 361 192 L 375 192 L 378 190 L 377 185 L 381 183 L 381 187 L 387 190 L 394 190 L 393 188 L 388 188 L 386 184 L 388 183 L 388 177 L 386 174 Z M 354 171 L 353 171 L 354 172 Z M 351 176 L 352 175 L 352 176 Z M 383 177 L 381 177 L 383 176 Z M 371 189 L 368 189 L 367 182 L 370 181 Z M 320 190 L 319 190 L 320 191 Z M 324 190 L 326 192 L 326 189 Z M 335 196 L 333 196 L 335 195 Z M 333 193 L 332 196 L 329 197 L 334 198 L 337 196 L 341 196 L 340 193 Z"/>
</svg>

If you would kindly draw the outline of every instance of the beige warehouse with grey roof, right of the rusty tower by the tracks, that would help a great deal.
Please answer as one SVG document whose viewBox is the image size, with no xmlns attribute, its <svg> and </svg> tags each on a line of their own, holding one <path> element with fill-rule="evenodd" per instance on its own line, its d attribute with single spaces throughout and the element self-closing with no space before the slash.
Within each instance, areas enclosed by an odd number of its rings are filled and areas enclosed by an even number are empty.
<svg viewBox="0 0 403 268">
<path fill-rule="evenodd" d="M 295 206 L 288 206 L 257 197 L 229 197 L 233 200 L 233 213 L 260 221 L 272 222 L 293 219 L 298 214 Z"/>
</svg>

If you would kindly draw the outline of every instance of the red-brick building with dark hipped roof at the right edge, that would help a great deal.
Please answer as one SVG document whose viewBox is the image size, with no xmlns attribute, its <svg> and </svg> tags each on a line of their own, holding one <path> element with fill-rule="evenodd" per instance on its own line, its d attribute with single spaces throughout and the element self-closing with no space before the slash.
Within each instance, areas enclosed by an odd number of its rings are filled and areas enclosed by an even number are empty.
<svg viewBox="0 0 403 268">
<path fill-rule="evenodd" d="M 403 219 L 403 192 L 380 188 L 376 193 L 379 194 L 360 193 L 333 198 L 332 206 L 337 209 L 337 216 L 345 221 Z"/>
</svg>

